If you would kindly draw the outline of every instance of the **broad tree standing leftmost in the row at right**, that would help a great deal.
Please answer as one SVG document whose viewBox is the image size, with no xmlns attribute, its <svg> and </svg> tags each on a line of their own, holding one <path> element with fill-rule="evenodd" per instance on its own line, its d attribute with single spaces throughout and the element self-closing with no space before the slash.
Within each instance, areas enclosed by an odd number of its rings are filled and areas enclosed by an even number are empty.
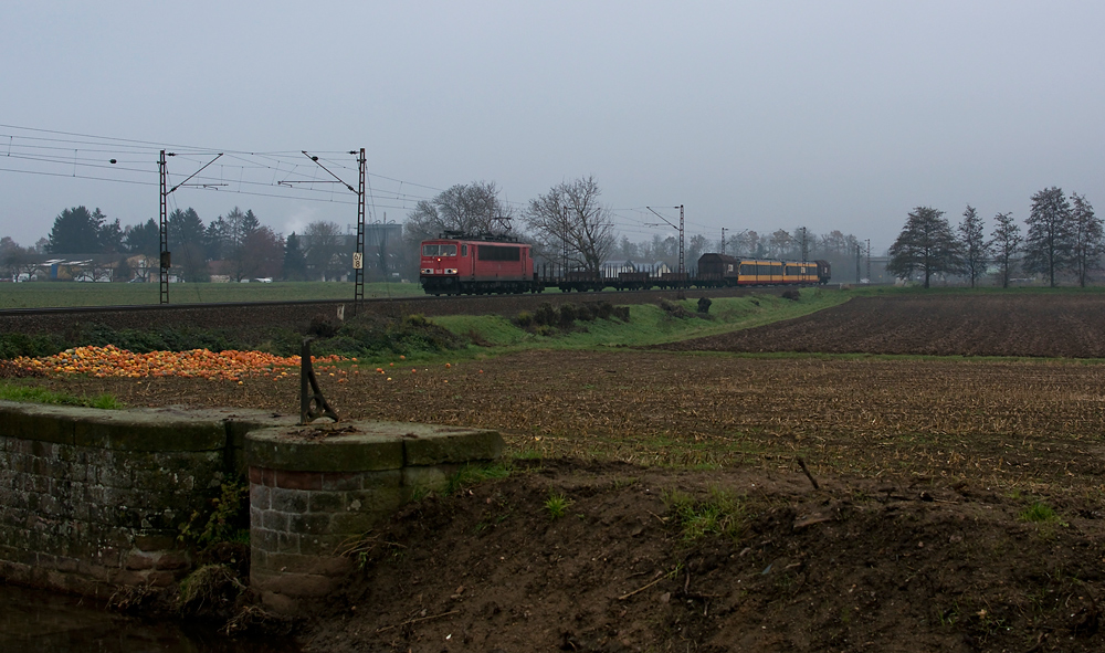
<svg viewBox="0 0 1105 653">
<path fill-rule="evenodd" d="M 905 228 L 891 245 L 886 271 L 899 278 L 914 273 L 924 275 L 925 287 L 936 274 L 949 274 L 959 268 L 960 259 L 955 234 L 944 211 L 917 207 L 909 213 Z"/>
</svg>

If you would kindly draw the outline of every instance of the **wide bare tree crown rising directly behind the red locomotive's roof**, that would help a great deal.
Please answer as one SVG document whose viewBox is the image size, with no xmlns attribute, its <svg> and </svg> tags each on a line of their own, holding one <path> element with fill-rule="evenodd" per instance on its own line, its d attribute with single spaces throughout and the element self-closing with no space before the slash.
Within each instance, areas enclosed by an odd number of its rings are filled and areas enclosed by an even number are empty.
<svg viewBox="0 0 1105 653">
<path fill-rule="evenodd" d="M 511 230 L 513 218 L 514 210 L 498 198 L 494 181 L 457 183 L 415 204 L 403 223 L 403 238 L 419 243 L 445 231 L 503 234 Z"/>
</svg>

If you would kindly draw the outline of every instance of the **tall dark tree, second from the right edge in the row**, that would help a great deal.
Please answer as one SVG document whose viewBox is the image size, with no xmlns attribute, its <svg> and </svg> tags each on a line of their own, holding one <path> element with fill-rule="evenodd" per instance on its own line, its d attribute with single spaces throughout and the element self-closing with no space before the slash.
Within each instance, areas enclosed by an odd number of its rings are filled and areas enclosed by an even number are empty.
<svg viewBox="0 0 1105 653">
<path fill-rule="evenodd" d="M 1024 270 L 1046 275 L 1055 287 L 1055 274 L 1070 268 L 1074 252 L 1071 204 L 1063 190 L 1053 186 L 1032 196 L 1032 213 L 1024 223 Z"/>
</svg>

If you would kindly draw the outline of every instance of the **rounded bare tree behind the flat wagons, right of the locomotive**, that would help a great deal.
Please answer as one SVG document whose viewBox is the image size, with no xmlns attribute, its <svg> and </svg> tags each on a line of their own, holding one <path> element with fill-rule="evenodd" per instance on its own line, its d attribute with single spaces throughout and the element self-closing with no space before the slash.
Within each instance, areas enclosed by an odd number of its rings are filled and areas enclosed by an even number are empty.
<svg viewBox="0 0 1105 653">
<path fill-rule="evenodd" d="M 580 177 L 529 200 L 526 224 L 554 260 L 567 247 L 567 265 L 598 274 L 614 249 L 614 225 L 599 204 L 601 192 L 593 177 Z"/>
</svg>

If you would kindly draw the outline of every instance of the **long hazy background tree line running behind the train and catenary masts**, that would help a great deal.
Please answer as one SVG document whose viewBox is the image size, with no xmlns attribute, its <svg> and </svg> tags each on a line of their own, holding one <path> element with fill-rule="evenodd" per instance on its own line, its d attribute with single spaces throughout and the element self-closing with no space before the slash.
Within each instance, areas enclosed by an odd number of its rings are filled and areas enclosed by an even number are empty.
<svg viewBox="0 0 1105 653">
<path fill-rule="evenodd" d="M 418 274 L 418 245 L 445 232 L 469 235 L 513 234 L 524 225 L 524 238 L 534 244 L 535 256 L 554 265 L 599 272 L 611 260 L 632 260 L 640 265 L 663 262 L 672 267 L 678 259 L 674 235 L 633 243 L 618 238 L 613 213 L 601 204 L 601 189 L 593 177 L 561 181 L 529 200 L 520 209 L 499 198 L 494 182 L 455 185 L 435 197 L 419 201 L 402 225 L 406 247 L 378 246 L 379 261 L 366 267 L 388 273 L 400 268 L 404 276 Z M 209 223 L 194 209 L 169 213 L 168 249 L 171 273 L 187 282 L 210 281 L 212 274 L 234 281 L 275 277 L 288 281 L 341 278 L 351 271 L 355 242 L 334 222 L 308 224 L 302 234 L 284 238 L 261 224 L 252 210 L 234 207 Z M 20 247 L 10 238 L 0 241 L 0 266 L 9 275 L 33 273 L 43 254 L 95 255 L 112 259 L 117 280 L 149 281 L 159 266 L 159 230 L 155 220 L 122 225 L 98 208 L 65 209 L 55 219 L 48 239 L 33 247 Z M 522 234 L 519 234 L 520 236 Z M 857 255 L 860 241 L 832 231 L 814 234 L 806 228 L 776 230 L 760 235 L 744 230 L 727 241 L 693 234 L 685 243 L 685 262 L 693 268 L 711 251 L 765 259 L 827 259 L 833 264 Z M 98 264 L 98 262 L 97 262 Z"/>
</svg>

